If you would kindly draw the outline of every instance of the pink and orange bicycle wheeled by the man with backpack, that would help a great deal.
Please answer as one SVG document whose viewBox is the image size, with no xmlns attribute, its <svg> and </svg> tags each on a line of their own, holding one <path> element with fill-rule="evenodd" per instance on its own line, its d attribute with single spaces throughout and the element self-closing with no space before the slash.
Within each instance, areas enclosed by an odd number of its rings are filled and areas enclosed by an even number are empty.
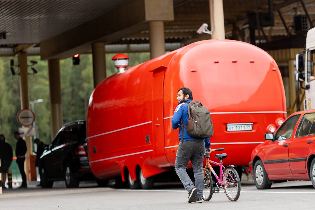
<svg viewBox="0 0 315 210">
<path fill-rule="evenodd" d="M 211 150 L 211 152 L 212 151 L 224 151 L 224 148 L 214 149 Z M 213 193 L 218 193 L 221 187 L 224 190 L 228 199 L 230 199 L 231 201 L 237 201 L 241 193 L 241 181 L 239 179 L 238 173 L 234 168 L 235 166 L 233 165 L 229 165 L 227 167 L 223 166 L 222 160 L 227 157 L 226 153 L 215 155 L 215 157 L 220 160 L 220 163 L 209 160 L 210 158 L 209 151 L 206 151 L 205 156 L 207 161 L 206 166 L 203 168 L 204 190 L 202 199 L 204 201 L 210 201 Z M 217 176 L 210 163 L 220 166 L 220 177 Z M 213 180 L 210 171 L 218 180 L 218 182 L 216 183 L 216 187 L 213 186 Z"/>
</svg>

